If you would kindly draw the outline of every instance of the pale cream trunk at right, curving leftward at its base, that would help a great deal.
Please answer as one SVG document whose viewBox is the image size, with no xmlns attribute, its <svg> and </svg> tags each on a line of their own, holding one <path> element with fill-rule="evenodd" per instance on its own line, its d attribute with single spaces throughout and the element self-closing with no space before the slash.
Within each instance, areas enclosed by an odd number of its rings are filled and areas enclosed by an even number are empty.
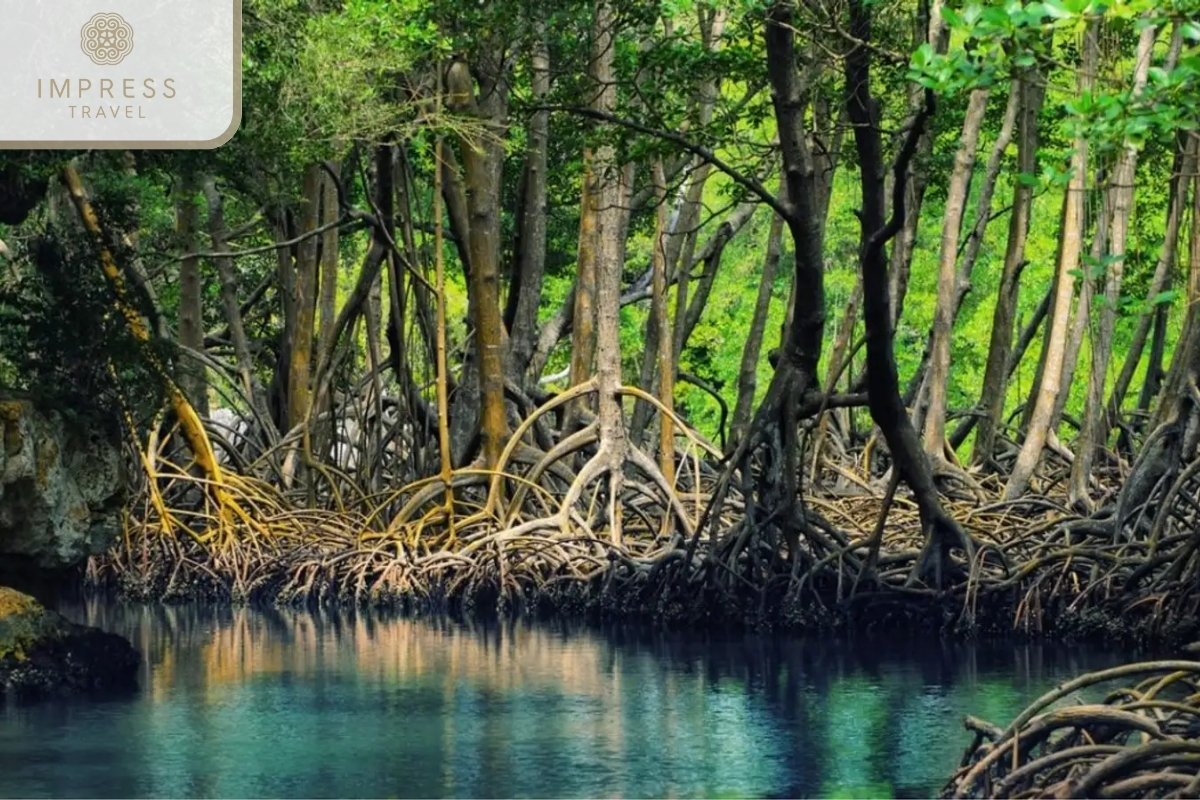
<svg viewBox="0 0 1200 800">
<path fill-rule="evenodd" d="M 1097 64 L 1097 38 L 1098 30 L 1094 22 L 1088 23 L 1084 34 L 1084 66 L 1079 72 L 1079 91 L 1087 94 L 1091 91 Z M 1051 416 L 1054 407 L 1062 390 L 1061 378 L 1063 356 L 1067 349 L 1067 332 L 1070 327 L 1070 305 L 1074 289 L 1074 272 L 1079 269 L 1080 253 L 1082 249 L 1082 211 L 1084 197 L 1087 185 L 1087 139 L 1079 137 L 1075 140 L 1074 154 L 1070 160 L 1070 182 L 1067 186 L 1066 219 L 1061 231 L 1062 254 L 1057 267 L 1057 288 L 1050 321 L 1046 329 L 1046 359 L 1042 371 L 1042 385 L 1034 398 L 1033 414 L 1030 417 L 1028 429 L 1025 433 L 1025 441 L 1021 451 L 1016 456 L 1016 463 L 1004 485 L 1004 499 L 1014 500 L 1028 488 L 1033 470 L 1042 459 L 1042 449 L 1045 446 L 1046 435 L 1050 433 Z"/>
</svg>

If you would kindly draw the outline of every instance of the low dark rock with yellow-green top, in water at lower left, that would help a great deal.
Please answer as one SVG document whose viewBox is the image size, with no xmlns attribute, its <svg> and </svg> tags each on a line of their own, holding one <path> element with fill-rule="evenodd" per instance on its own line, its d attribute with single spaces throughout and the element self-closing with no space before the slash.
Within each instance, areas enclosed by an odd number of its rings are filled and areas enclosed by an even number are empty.
<svg viewBox="0 0 1200 800">
<path fill-rule="evenodd" d="M 76 625 L 0 587 L 0 697 L 41 699 L 137 688 L 140 657 L 115 633 Z"/>
</svg>

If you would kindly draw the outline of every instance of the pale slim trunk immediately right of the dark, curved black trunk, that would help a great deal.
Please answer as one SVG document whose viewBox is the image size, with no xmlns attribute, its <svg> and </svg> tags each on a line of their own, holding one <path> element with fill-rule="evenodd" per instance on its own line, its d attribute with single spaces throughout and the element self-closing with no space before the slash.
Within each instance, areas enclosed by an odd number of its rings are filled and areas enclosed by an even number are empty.
<svg viewBox="0 0 1200 800">
<path fill-rule="evenodd" d="M 979 130 L 988 110 L 986 89 L 976 89 L 967 101 L 962 138 L 954 170 L 946 192 L 946 216 L 942 219 L 942 249 L 937 267 L 937 305 L 934 311 L 934 341 L 929 361 L 929 409 L 925 411 L 925 452 L 941 459 L 946 450 L 946 392 L 950 380 L 950 333 L 954 327 L 954 295 L 958 273 L 959 234 L 966 212 L 971 175 L 974 172 Z"/>
</svg>

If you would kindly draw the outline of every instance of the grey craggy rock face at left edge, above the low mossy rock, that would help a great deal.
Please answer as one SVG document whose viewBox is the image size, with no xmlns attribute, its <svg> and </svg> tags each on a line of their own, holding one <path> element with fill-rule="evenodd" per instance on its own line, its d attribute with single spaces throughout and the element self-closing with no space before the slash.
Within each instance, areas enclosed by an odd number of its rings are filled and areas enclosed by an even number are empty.
<svg viewBox="0 0 1200 800">
<path fill-rule="evenodd" d="M 29 399 L 0 399 L 0 561 L 55 572 L 112 546 L 125 501 L 115 437 Z"/>
</svg>

